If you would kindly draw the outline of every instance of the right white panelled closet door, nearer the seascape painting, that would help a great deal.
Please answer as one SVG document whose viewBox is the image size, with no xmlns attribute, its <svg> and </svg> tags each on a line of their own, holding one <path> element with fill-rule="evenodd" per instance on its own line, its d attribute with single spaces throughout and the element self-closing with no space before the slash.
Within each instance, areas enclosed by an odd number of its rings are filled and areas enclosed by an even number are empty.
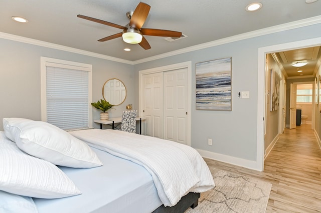
<svg viewBox="0 0 321 213">
<path fill-rule="evenodd" d="M 187 68 L 164 72 L 164 138 L 187 144 Z"/>
</svg>

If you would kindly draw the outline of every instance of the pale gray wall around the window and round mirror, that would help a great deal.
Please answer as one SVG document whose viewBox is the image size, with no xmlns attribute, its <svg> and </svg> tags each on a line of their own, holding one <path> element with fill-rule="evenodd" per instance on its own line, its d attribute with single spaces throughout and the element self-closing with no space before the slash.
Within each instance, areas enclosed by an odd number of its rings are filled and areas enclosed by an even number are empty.
<svg viewBox="0 0 321 213">
<path fill-rule="evenodd" d="M 109 78 L 119 78 L 127 87 L 127 98 L 110 116 L 120 116 L 128 103 L 134 103 L 133 66 L 23 42 L 0 39 L 0 130 L 3 117 L 41 120 L 40 56 L 89 63 L 93 66 L 93 101 L 102 97 L 102 86 Z M 135 105 L 133 104 L 133 107 Z M 94 118 L 99 111 L 93 108 Z M 94 127 L 99 127 L 94 123 Z"/>
</svg>

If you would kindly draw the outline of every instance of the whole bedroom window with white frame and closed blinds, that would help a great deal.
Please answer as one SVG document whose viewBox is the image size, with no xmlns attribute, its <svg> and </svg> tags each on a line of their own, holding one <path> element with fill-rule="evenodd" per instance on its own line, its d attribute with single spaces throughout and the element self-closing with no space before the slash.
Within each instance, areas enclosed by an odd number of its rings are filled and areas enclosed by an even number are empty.
<svg viewBox="0 0 321 213">
<path fill-rule="evenodd" d="M 41 57 L 41 119 L 65 130 L 92 127 L 92 65 Z"/>
</svg>

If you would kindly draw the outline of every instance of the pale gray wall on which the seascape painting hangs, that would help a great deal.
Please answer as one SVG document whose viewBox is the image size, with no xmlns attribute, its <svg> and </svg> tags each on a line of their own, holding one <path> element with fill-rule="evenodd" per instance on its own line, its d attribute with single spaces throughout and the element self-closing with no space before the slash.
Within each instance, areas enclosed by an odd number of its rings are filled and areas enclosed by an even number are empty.
<svg viewBox="0 0 321 213">
<path fill-rule="evenodd" d="M 240 41 L 208 47 L 134 65 L 138 71 L 183 61 L 192 61 L 192 94 L 195 94 L 195 63 L 232 57 L 232 111 L 196 110 L 192 96 L 192 146 L 237 158 L 256 160 L 258 48 L 321 35 L 321 24 L 285 30 Z M 259 70 L 263 71 L 264 70 Z M 138 105 L 138 85 L 135 84 Z M 237 97 L 238 91 L 250 91 L 249 99 Z M 277 124 L 276 124 L 277 125 Z M 213 138 L 209 146 L 207 138 Z"/>
</svg>

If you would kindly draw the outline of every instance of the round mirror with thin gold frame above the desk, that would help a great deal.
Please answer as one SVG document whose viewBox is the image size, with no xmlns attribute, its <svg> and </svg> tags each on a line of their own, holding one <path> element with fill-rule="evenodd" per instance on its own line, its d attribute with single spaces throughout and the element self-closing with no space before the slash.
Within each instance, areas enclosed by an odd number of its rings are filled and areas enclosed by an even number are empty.
<svg viewBox="0 0 321 213">
<path fill-rule="evenodd" d="M 127 95 L 126 87 L 117 78 L 107 80 L 102 87 L 102 96 L 106 101 L 113 105 L 124 102 Z"/>
</svg>

